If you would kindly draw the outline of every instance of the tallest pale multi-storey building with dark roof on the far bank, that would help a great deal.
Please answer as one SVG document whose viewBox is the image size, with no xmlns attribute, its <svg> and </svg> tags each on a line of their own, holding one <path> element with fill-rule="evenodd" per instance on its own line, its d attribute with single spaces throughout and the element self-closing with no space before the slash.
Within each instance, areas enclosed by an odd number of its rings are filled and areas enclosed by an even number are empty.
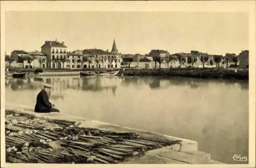
<svg viewBox="0 0 256 168">
<path fill-rule="evenodd" d="M 64 42 L 45 41 L 41 46 L 41 52 L 47 55 L 48 68 L 65 68 L 67 64 L 67 46 Z"/>
</svg>

